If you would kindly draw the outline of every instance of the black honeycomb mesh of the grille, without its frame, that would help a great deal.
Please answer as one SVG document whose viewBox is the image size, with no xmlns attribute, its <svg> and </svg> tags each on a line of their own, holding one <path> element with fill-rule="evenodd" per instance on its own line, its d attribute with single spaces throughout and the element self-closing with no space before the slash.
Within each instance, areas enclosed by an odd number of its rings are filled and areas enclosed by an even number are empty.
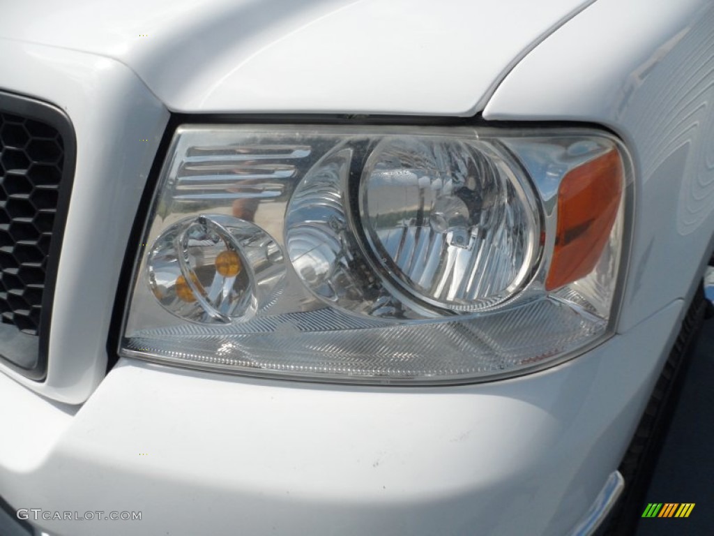
<svg viewBox="0 0 714 536">
<path fill-rule="evenodd" d="M 40 329 L 63 164 L 53 126 L 0 112 L 0 317 L 32 335 Z"/>
</svg>

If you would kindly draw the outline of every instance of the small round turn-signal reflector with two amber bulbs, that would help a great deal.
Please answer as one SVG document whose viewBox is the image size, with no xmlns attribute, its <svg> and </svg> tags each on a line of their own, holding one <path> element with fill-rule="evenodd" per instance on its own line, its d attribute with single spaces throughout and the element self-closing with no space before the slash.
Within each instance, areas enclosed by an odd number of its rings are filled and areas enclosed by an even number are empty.
<svg viewBox="0 0 714 536">
<path fill-rule="evenodd" d="M 259 227 L 226 216 L 184 219 L 156 239 L 149 285 L 176 316 L 201 323 L 250 318 L 283 279 L 282 254 Z"/>
</svg>

